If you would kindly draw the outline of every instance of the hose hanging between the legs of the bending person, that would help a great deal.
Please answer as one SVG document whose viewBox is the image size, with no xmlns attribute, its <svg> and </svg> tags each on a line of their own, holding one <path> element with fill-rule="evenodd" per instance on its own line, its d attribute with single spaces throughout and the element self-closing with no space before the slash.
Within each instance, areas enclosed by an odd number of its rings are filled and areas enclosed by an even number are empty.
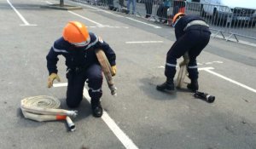
<svg viewBox="0 0 256 149">
<path fill-rule="evenodd" d="M 176 80 L 176 86 L 177 88 L 182 88 L 183 81 L 185 79 L 186 74 L 188 73 L 187 66 L 189 64 L 189 54 L 186 52 L 183 54 L 183 61 L 179 63 L 179 72 L 177 75 L 177 80 Z"/>
</svg>

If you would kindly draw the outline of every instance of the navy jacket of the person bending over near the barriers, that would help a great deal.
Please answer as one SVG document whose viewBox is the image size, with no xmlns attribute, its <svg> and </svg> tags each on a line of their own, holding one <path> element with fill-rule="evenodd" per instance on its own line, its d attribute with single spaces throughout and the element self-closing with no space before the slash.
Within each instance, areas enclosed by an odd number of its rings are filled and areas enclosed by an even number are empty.
<svg viewBox="0 0 256 149">
<path fill-rule="evenodd" d="M 175 36 L 176 39 L 179 37 L 182 37 L 186 32 L 189 32 L 189 30 L 203 30 L 205 32 L 210 32 L 207 26 L 190 26 L 186 31 L 183 31 L 183 29 L 189 24 L 190 21 L 192 20 L 203 20 L 200 16 L 198 15 L 184 15 L 181 17 L 179 20 L 177 20 L 177 24 L 175 25 Z M 203 20 L 205 21 L 205 20 Z M 211 33 L 211 32 L 210 32 Z"/>
</svg>

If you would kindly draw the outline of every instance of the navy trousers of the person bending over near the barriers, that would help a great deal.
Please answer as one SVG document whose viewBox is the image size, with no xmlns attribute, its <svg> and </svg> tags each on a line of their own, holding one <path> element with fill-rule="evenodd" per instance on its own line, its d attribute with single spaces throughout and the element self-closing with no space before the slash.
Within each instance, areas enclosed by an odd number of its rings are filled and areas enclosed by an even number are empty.
<svg viewBox="0 0 256 149">
<path fill-rule="evenodd" d="M 189 53 L 189 78 L 191 80 L 198 79 L 196 57 L 207 46 L 210 36 L 210 32 L 198 29 L 190 30 L 182 37 L 178 38 L 177 41 L 173 43 L 166 56 L 165 75 L 167 79 L 173 80 L 176 73 L 177 59 L 183 56 L 186 52 Z"/>
</svg>

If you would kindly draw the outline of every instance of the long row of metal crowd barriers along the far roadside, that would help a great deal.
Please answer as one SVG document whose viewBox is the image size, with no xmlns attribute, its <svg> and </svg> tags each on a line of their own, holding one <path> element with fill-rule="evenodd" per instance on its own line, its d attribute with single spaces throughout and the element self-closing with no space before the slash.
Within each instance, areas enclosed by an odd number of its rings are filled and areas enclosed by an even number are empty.
<svg viewBox="0 0 256 149">
<path fill-rule="evenodd" d="M 128 0 L 73 0 L 79 3 L 89 3 L 105 9 L 131 14 L 127 11 Z M 131 0 L 132 1 L 132 0 Z M 223 5 L 207 3 L 192 3 L 173 0 L 135 0 L 135 14 L 158 23 L 172 26 L 172 16 L 177 12 L 197 14 L 207 21 L 213 36 L 220 35 L 226 40 L 235 37 L 256 39 L 256 9 L 229 8 Z"/>
</svg>

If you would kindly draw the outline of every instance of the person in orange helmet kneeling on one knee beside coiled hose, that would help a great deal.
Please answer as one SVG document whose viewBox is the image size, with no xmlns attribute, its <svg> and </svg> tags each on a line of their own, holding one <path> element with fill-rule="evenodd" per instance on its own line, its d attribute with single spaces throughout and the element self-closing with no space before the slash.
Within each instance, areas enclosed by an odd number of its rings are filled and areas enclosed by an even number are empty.
<svg viewBox="0 0 256 149">
<path fill-rule="evenodd" d="M 57 75 L 58 55 L 66 59 L 67 66 L 67 106 L 79 106 L 83 99 L 84 83 L 88 83 L 90 104 L 94 117 L 102 117 L 102 67 L 96 58 L 95 49 L 102 49 L 113 72 L 116 72 L 116 55 L 101 37 L 88 32 L 86 26 L 78 21 L 70 21 L 63 30 L 63 36 L 57 39 L 46 56 L 49 71 L 48 88 L 53 85 Z"/>
</svg>

